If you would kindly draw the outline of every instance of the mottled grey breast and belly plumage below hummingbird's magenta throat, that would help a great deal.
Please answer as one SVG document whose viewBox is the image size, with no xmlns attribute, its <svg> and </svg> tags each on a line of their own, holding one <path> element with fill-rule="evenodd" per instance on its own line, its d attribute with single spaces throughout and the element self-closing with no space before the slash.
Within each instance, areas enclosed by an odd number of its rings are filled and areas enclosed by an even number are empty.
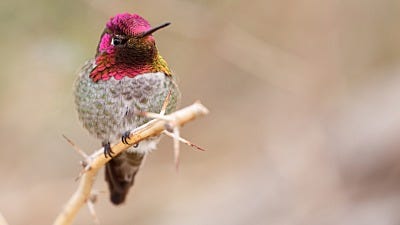
<svg viewBox="0 0 400 225">
<path fill-rule="evenodd" d="M 115 141 L 125 131 L 146 123 L 149 119 L 137 116 L 135 112 L 160 112 L 169 91 L 171 100 L 167 113 L 177 105 L 178 87 L 164 73 L 94 83 L 89 78 L 92 69 L 93 61 L 82 68 L 75 82 L 75 103 L 83 126 L 102 141 Z"/>
</svg>

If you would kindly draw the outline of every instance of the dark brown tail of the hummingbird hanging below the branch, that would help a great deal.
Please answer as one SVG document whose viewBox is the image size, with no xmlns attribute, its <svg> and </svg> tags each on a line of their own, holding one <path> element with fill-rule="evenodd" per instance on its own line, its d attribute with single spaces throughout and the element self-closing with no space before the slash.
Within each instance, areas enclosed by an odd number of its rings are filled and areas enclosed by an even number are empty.
<svg viewBox="0 0 400 225">
<path fill-rule="evenodd" d="M 110 190 L 110 200 L 115 205 L 125 201 L 143 158 L 144 154 L 142 153 L 124 152 L 106 164 L 105 177 Z"/>
</svg>

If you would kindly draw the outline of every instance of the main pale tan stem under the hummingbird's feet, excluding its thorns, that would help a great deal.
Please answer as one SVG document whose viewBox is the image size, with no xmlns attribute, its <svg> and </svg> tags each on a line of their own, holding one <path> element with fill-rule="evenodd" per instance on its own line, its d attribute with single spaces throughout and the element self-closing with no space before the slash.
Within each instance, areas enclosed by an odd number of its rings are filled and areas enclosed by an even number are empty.
<svg viewBox="0 0 400 225">
<path fill-rule="evenodd" d="M 196 102 L 186 108 L 169 114 L 168 117 L 172 118 L 175 127 L 179 127 L 207 113 L 207 108 L 201 103 Z M 168 122 L 162 119 L 153 119 L 149 121 L 131 132 L 129 136 L 129 145 L 119 142 L 111 147 L 112 151 L 115 155 L 120 154 L 141 140 L 161 134 L 167 127 L 166 123 Z M 86 172 L 80 179 L 78 189 L 56 218 L 54 222 L 55 225 L 71 224 L 80 208 L 90 199 L 92 186 L 98 170 L 111 160 L 110 157 L 105 158 L 103 151 L 104 149 L 101 148 L 89 156 L 90 161 L 85 168 Z"/>
</svg>

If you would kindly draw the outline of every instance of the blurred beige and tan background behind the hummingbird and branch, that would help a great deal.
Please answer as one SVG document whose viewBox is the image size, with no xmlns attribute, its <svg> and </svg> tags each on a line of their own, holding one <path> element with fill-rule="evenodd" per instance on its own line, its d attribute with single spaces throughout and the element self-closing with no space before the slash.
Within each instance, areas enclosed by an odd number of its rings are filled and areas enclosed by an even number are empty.
<svg viewBox="0 0 400 225">
<path fill-rule="evenodd" d="M 0 212 L 51 224 L 77 188 L 72 84 L 109 17 L 151 24 L 183 93 L 207 117 L 163 138 L 122 207 L 96 190 L 102 224 L 400 224 L 398 0 L 0 2 Z M 82 208 L 75 224 L 93 224 Z"/>
</svg>

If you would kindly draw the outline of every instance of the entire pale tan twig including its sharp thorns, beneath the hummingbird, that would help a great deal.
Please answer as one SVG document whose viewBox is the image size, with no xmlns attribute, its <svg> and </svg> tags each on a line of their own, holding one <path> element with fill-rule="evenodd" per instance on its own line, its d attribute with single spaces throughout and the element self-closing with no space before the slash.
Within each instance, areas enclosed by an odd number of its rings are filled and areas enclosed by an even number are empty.
<svg viewBox="0 0 400 225">
<path fill-rule="evenodd" d="M 197 117 L 204 116 L 206 114 L 208 114 L 208 109 L 205 108 L 201 103 L 195 102 L 194 104 L 177 110 L 169 115 L 157 114 L 160 119 L 149 121 L 148 123 L 135 128 L 131 132 L 131 135 L 135 135 L 135 140 L 137 142 L 152 136 L 160 135 L 162 132 L 164 132 L 166 135 L 172 136 L 174 138 L 174 158 L 175 164 L 177 166 L 179 163 L 179 142 L 183 142 L 199 150 L 204 150 L 197 145 L 194 145 L 191 142 L 181 138 L 179 136 L 179 127 L 192 121 L 193 119 L 196 119 Z M 165 121 L 168 121 L 167 123 L 169 125 L 167 126 L 171 128 L 170 130 L 172 131 L 172 133 L 164 129 L 166 124 Z M 81 164 L 84 169 L 79 176 L 81 179 L 79 181 L 77 190 L 64 206 L 64 209 L 57 216 L 54 225 L 72 224 L 72 221 L 76 217 L 80 208 L 85 204 L 88 205 L 94 221 L 98 224 L 98 219 L 94 210 L 94 202 L 96 201 L 96 198 L 92 196 L 92 192 L 90 190 L 93 187 L 93 183 L 99 169 L 102 168 L 110 160 L 110 158 L 107 159 L 104 157 L 103 148 L 98 149 L 90 156 L 87 156 L 86 153 L 76 147 L 76 145 L 67 137 L 65 137 L 65 135 L 63 135 L 63 137 L 74 147 L 75 150 L 77 150 L 80 155 L 83 156 L 84 160 L 81 162 Z M 122 141 L 113 145 L 113 150 L 115 150 L 116 154 L 126 151 L 128 148 L 129 146 L 123 144 Z"/>
</svg>

